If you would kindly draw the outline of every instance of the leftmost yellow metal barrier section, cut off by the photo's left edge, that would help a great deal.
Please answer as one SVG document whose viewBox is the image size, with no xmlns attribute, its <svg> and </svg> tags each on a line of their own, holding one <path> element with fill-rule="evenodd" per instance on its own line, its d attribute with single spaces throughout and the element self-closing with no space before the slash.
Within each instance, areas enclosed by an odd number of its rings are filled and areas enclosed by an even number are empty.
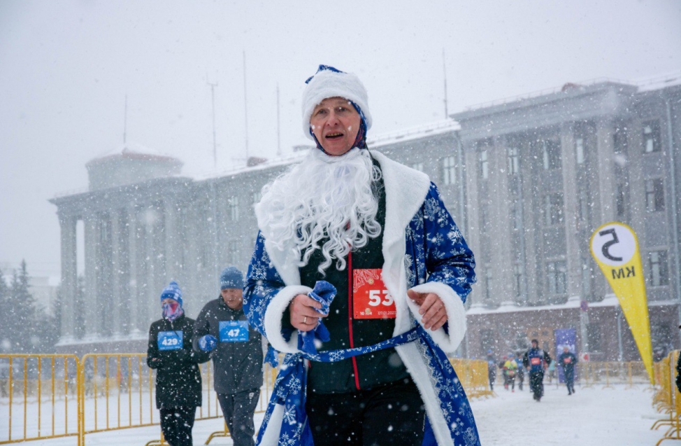
<svg viewBox="0 0 681 446">
<path fill-rule="evenodd" d="M 78 368 L 74 355 L 0 354 L 0 407 L 8 413 L 0 444 L 76 436 L 80 446 Z"/>
</svg>

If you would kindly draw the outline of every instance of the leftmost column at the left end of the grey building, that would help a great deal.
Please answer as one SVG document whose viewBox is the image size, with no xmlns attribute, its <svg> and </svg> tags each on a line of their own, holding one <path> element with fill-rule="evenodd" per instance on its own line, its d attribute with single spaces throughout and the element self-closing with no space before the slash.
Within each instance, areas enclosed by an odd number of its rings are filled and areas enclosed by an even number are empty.
<svg viewBox="0 0 681 446">
<path fill-rule="evenodd" d="M 73 331 L 76 326 L 76 295 L 78 295 L 78 251 L 76 244 L 76 223 L 78 218 L 59 213 L 59 227 L 62 238 L 62 301 L 60 344 L 76 340 Z"/>
</svg>

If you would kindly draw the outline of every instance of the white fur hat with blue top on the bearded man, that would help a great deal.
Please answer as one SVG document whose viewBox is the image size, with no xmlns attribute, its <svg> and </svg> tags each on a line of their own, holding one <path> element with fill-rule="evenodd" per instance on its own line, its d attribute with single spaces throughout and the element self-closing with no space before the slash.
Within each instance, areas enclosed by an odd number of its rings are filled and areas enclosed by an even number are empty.
<svg viewBox="0 0 681 446">
<path fill-rule="evenodd" d="M 371 128 L 371 113 L 369 113 L 366 88 L 357 75 L 345 73 L 334 67 L 320 65 L 317 73 L 305 81 L 303 91 L 303 133 L 313 139 L 310 134 L 310 116 L 317 105 L 327 97 L 344 97 L 357 104 L 360 115 L 364 118 L 366 130 Z"/>
</svg>

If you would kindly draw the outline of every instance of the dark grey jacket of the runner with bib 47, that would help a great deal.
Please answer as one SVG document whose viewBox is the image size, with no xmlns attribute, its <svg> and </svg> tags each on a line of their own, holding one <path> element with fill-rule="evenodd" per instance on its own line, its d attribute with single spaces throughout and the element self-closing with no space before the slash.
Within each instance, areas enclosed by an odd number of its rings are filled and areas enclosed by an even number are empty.
<svg viewBox="0 0 681 446">
<path fill-rule="evenodd" d="M 242 321 L 248 327 L 248 340 L 229 340 L 225 327 Z M 220 338 L 220 322 L 223 323 L 223 337 Z M 259 389 L 262 385 L 262 340 L 246 320 L 243 309 L 231 309 L 222 297 L 208 302 L 194 325 L 194 350 L 199 349 L 203 335 L 217 338 L 217 347 L 210 352 L 213 358 L 214 388 L 217 393 L 238 393 Z"/>
</svg>

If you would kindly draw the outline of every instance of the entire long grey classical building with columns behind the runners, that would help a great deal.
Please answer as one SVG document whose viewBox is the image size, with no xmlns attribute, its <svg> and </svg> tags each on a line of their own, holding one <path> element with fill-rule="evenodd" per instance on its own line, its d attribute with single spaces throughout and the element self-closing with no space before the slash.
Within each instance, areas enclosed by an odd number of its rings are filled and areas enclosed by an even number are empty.
<svg viewBox="0 0 681 446">
<path fill-rule="evenodd" d="M 595 359 L 636 358 L 589 252 L 609 221 L 638 234 L 654 344 L 679 347 L 680 84 L 568 84 L 368 141 L 429 174 L 475 253 L 462 354 L 520 351 L 531 337 L 554 349 L 556 330 L 573 330 Z M 62 228 L 59 349 L 145 349 L 171 279 L 196 316 L 222 267 L 246 269 L 261 187 L 306 150 L 203 179 L 129 144 L 89 162 L 87 192 L 50 200 Z"/>
</svg>

